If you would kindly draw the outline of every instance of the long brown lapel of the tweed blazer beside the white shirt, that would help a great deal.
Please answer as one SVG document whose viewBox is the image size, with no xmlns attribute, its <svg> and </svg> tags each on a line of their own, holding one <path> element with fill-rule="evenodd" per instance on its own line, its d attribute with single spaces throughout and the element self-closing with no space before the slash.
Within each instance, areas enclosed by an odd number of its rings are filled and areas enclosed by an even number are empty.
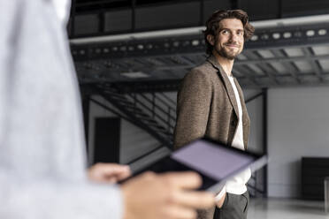
<svg viewBox="0 0 329 219">
<path fill-rule="evenodd" d="M 224 82 L 224 85 L 226 87 L 226 92 L 228 95 L 228 98 L 230 99 L 230 102 L 233 106 L 234 112 L 236 117 L 239 118 L 239 110 L 238 110 L 238 104 L 236 102 L 235 99 L 235 94 L 233 91 L 233 87 L 231 85 L 230 80 L 228 79 L 228 76 L 226 75 L 226 72 L 224 71 L 224 69 L 222 68 L 222 66 L 220 66 L 220 64 L 218 64 L 218 61 L 216 60 L 215 57 L 211 56 L 207 59 L 207 61 L 218 70 L 218 76 L 220 79 L 222 79 L 222 81 Z"/>
</svg>

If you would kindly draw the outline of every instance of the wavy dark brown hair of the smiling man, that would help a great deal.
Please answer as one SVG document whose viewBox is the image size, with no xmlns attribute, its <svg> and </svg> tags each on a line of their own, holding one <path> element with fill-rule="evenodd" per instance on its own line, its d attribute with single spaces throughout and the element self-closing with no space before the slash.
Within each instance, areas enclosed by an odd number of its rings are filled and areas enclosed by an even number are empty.
<svg viewBox="0 0 329 219">
<path fill-rule="evenodd" d="M 248 14 L 242 10 L 218 10 L 212 13 L 206 22 L 206 29 L 203 31 L 204 41 L 206 43 L 206 53 L 212 54 L 213 46 L 208 42 L 207 35 L 213 35 L 215 39 L 218 37 L 218 30 L 220 28 L 219 22 L 222 19 L 240 19 L 244 29 L 244 40 L 248 41 L 255 32 L 254 26 L 250 25 Z"/>
</svg>

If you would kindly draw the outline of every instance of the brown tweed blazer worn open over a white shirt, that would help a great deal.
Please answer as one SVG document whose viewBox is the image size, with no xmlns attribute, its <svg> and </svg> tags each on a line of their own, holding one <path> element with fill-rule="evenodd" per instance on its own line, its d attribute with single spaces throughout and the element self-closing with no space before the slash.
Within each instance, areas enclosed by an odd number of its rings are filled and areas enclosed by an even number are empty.
<svg viewBox="0 0 329 219">
<path fill-rule="evenodd" d="M 242 106 L 243 141 L 247 148 L 249 115 L 236 79 Z M 174 147 L 203 136 L 231 145 L 239 122 L 238 105 L 231 82 L 215 57 L 184 77 L 177 97 Z M 215 208 L 198 211 L 198 219 L 213 219 Z"/>
</svg>

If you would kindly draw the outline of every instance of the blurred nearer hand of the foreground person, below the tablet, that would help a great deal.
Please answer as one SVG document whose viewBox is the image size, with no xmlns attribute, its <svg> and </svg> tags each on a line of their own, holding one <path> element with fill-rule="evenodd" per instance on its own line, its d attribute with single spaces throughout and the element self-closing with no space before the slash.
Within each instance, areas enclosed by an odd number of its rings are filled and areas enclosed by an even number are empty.
<svg viewBox="0 0 329 219">
<path fill-rule="evenodd" d="M 211 193 L 194 191 L 202 184 L 193 172 L 144 173 L 122 185 L 124 219 L 192 219 L 196 208 L 215 205 Z"/>
</svg>

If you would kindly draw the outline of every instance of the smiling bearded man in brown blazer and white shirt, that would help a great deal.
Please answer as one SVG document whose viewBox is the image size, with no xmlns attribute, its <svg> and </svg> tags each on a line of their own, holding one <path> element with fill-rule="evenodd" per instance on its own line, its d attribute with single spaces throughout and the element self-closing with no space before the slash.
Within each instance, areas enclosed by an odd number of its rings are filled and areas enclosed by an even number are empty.
<svg viewBox="0 0 329 219">
<path fill-rule="evenodd" d="M 177 99 L 174 146 L 203 136 L 242 150 L 247 148 L 249 115 L 241 87 L 233 77 L 234 58 L 254 33 L 245 11 L 215 11 L 203 32 L 209 57 L 184 77 Z M 217 195 L 217 206 L 198 218 L 247 218 L 249 170 L 233 177 Z"/>
</svg>

